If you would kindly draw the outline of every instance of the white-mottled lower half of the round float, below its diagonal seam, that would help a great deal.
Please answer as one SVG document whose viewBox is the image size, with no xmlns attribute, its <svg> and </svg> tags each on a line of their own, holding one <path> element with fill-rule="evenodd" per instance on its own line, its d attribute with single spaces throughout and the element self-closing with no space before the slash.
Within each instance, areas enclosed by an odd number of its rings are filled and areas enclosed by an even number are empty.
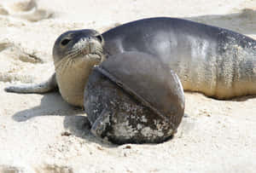
<svg viewBox="0 0 256 173">
<path fill-rule="evenodd" d="M 105 124 L 96 124 L 97 128 L 104 126 L 105 129 L 94 130 L 95 136 L 107 137 L 117 144 L 157 143 L 172 137 L 175 125 L 171 121 L 144 107 L 101 73 L 93 71 L 90 78 L 84 102 L 90 123 L 94 126 L 97 118 L 109 118 L 109 121 L 101 119 Z"/>
</svg>

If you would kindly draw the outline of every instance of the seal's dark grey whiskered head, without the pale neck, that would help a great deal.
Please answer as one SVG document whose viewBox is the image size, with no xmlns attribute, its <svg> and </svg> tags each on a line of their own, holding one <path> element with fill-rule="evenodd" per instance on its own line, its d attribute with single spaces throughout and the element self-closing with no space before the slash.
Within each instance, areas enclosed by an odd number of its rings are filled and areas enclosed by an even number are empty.
<svg viewBox="0 0 256 173">
<path fill-rule="evenodd" d="M 76 61 L 86 58 L 96 64 L 103 61 L 103 37 L 95 30 L 68 31 L 61 34 L 55 41 L 53 58 L 56 65 L 64 60 Z"/>
</svg>

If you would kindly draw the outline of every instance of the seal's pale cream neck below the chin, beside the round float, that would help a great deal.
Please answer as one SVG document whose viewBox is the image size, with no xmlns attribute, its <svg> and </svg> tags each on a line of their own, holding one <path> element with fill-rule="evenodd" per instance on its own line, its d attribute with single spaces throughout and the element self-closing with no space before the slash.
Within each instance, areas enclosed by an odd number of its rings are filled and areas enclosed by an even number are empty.
<svg viewBox="0 0 256 173">
<path fill-rule="evenodd" d="M 78 59 L 66 69 L 55 69 L 57 84 L 62 98 L 73 106 L 83 107 L 84 86 L 95 61 Z"/>
</svg>

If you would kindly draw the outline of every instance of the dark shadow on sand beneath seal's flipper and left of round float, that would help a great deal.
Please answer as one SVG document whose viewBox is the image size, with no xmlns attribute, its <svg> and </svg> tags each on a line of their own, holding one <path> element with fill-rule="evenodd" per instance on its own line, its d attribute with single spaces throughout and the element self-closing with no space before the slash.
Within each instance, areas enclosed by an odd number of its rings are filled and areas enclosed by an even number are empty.
<svg viewBox="0 0 256 173">
<path fill-rule="evenodd" d="M 44 94 L 39 106 L 16 112 L 12 118 L 17 122 L 24 122 L 38 116 L 64 116 L 63 125 L 67 131 L 61 136 L 78 136 L 87 142 L 98 143 L 104 147 L 115 147 L 93 136 L 90 133 L 90 122 L 84 111 L 80 107 L 67 104 L 57 92 Z"/>
</svg>

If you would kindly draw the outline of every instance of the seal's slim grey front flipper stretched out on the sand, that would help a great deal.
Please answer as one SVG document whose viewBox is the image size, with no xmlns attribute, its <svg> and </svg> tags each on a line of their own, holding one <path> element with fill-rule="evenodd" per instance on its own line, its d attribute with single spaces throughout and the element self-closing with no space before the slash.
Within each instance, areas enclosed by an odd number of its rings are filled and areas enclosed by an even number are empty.
<svg viewBox="0 0 256 173">
<path fill-rule="evenodd" d="M 57 89 L 57 87 L 54 73 L 47 81 L 41 84 L 20 84 L 6 87 L 4 90 L 15 93 L 47 93 L 51 90 Z"/>
</svg>

